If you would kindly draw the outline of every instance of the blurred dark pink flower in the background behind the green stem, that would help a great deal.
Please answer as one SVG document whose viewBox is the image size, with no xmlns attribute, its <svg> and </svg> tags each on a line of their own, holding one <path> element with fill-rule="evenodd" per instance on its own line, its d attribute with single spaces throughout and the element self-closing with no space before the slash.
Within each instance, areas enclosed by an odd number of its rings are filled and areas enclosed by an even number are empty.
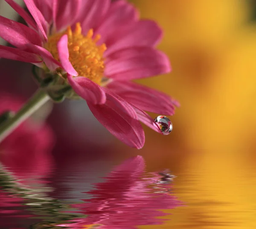
<svg viewBox="0 0 256 229">
<path fill-rule="evenodd" d="M 22 101 L 9 94 L 0 96 L 0 114 L 6 110 L 17 111 Z M 15 173 L 42 176 L 52 165 L 51 150 L 54 145 L 52 130 L 46 124 L 26 120 L 0 143 L 0 162 Z"/>
</svg>

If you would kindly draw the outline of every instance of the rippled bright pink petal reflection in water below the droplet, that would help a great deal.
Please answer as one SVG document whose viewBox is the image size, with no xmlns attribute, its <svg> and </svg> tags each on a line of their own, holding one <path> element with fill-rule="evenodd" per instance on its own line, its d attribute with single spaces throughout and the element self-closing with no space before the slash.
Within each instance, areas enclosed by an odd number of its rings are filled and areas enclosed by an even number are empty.
<svg viewBox="0 0 256 229">
<path fill-rule="evenodd" d="M 166 214 L 158 209 L 175 208 L 180 201 L 167 191 L 169 184 L 156 182 L 160 180 L 159 175 L 146 177 L 144 168 L 141 156 L 117 166 L 105 177 L 105 182 L 96 183 L 96 189 L 86 192 L 92 198 L 73 205 L 86 217 L 73 220 L 66 226 L 70 229 L 90 228 L 89 225 L 98 225 L 96 228 L 99 229 L 135 229 L 138 225 L 161 224 L 163 219 L 156 217 Z"/>
</svg>

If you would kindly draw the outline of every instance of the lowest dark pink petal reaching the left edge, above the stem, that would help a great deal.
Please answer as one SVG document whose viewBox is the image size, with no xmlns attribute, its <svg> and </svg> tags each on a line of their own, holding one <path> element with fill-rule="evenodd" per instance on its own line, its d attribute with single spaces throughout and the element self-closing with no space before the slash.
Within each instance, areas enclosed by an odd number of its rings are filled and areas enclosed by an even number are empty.
<svg viewBox="0 0 256 229">
<path fill-rule="evenodd" d="M 41 63 L 41 58 L 33 53 L 25 52 L 8 46 L 0 46 L 0 58 L 19 60 L 28 63 Z"/>
</svg>

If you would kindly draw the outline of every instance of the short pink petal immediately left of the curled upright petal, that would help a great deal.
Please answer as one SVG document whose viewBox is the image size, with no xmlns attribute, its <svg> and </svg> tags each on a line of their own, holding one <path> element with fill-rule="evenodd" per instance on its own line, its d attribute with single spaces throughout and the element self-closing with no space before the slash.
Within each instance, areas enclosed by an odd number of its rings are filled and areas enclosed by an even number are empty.
<svg viewBox="0 0 256 229">
<path fill-rule="evenodd" d="M 62 68 L 61 63 L 59 63 L 58 60 L 55 60 L 47 49 L 32 44 L 29 44 L 27 47 L 29 51 L 39 54 L 43 58 L 45 65 L 50 71 L 54 71 L 59 67 Z"/>
</svg>

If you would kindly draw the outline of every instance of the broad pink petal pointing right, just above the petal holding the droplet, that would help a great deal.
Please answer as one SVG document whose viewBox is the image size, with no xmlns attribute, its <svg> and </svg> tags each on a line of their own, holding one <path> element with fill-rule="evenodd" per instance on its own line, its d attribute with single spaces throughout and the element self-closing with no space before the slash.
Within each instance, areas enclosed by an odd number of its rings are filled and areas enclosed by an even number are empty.
<svg viewBox="0 0 256 229">
<path fill-rule="evenodd" d="M 167 94 L 134 83 L 113 81 L 108 89 L 139 109 L 161 115 L 174 115 L 177 103 Z"/>
</svg>

